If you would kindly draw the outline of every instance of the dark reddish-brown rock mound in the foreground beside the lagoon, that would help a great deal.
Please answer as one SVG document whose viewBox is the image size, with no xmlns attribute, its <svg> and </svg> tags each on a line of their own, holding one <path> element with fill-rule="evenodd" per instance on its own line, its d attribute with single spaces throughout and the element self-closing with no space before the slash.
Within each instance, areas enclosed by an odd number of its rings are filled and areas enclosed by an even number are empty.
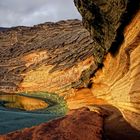
<svg viewBox="0 0 140 140">
<path fill-rule="evenodd" d="M 63 118 L 0 136 L 0 140 L 101 140 L 102 132 L 102 116 L 82 108 Z"/>
</svg>

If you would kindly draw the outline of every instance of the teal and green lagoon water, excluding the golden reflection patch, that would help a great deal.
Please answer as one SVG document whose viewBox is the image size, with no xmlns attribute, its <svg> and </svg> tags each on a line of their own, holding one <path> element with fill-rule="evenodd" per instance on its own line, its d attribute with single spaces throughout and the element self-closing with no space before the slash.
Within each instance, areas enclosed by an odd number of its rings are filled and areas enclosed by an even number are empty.
<svg viewBox="0 0 140 140">
<path fill-rule="evenodd" d="M 23 108 L 20 109 L 19 106 L 17 108 L 16 106 L 15 108 L 13 108 L 13 106 L 12 108 L 5 107 L 4 104 L 7 104 L 7 102 L 12 102 L 11 100 L 8 100 L 8 96 L 11 95 L 0 95 L 0 134 L 5 134 L 23 128 L 32 127 L 40 123 L 53 120 L 55 118 L 62 117 L 67 112 L 66 102 L 63 100 L 63 98 L 58 97 L 58 95 L 56 94 L 39 92 L 30 93 L 30 96 L 28 96 L 28 93 L 13 95 L 34 98 L 35 100 L 39 99 L 49 104 L 49 106 L 47 106 L 46 108 L 36 109 L 32 111 L 23 110 Z M 16 102 L 19 102 L 20 97 L 12 97 L 12 99 L 14 99 L 16 105 Z M 15 99 L 18 99 L 18 101 L 16 101 Z"/>
</svg>

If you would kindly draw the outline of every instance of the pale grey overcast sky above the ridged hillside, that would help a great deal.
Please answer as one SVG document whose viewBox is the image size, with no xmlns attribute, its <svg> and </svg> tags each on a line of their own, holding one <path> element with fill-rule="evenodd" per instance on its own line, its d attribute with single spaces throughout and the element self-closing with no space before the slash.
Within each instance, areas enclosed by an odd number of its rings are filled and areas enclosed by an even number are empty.
<svg viewBox="0 0 140 140">
<path fill-rule="evenodd" d="M 0 27 L 81 19 L 73 0 L 0 0 Z"/>
</svg>

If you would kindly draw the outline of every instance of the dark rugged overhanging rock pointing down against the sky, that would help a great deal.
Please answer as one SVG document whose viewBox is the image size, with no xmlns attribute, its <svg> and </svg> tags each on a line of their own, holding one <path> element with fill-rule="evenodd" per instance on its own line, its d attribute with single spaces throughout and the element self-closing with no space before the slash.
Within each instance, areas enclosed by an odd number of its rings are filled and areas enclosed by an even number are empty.
<svg viewBox="0 0 140 140">
<path fill-rule="evenodd" d="M 116 50 L 123 41 L 124 27 L 137 11 L 137 0 L 74 0 L 87 28 L 98 44 L 96 48 L 98 62 L 111 48 Z"/>
</svg>

